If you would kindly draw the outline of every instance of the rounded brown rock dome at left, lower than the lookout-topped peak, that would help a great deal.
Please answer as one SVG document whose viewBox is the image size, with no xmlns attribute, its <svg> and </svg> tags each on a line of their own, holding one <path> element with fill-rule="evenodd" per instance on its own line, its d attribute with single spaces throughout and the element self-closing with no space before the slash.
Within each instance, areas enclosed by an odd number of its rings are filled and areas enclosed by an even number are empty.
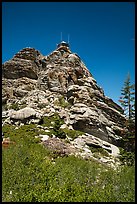
<svg viewBox="0 0 137 204">
<path fill-rule="evenodd" d="M 38 63 L 42 57 L 34 48 L 24 48 L 2 65 L 2 76 L 8 79 L 38 79 Z"/>
</svg>

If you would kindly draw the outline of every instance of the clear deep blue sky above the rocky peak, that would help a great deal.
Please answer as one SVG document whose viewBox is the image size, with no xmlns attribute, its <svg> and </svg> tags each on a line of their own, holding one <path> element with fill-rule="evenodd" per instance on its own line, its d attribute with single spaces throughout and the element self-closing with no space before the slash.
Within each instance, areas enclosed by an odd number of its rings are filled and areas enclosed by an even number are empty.
<svg viewBox="0 0 137 204">
<path fill-rule="evenodd" d="M 106 96 L 118 103 L 128 72 L 135 83 L 133 2 L 3 2 L 2 62 L 25 47 L 43 55 L 68 40 Z"/>
</svg>

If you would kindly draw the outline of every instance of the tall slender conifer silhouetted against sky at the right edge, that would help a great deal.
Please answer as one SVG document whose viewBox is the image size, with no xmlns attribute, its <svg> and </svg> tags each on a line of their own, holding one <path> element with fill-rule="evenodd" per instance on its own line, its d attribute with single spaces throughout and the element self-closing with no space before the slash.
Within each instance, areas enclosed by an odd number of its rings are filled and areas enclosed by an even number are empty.
<svg viewBox="0 0 137 204">
<path fill-rule="evenodd" d="M 124 108 L 124 113 L 129 120 L 135 120 L 135 85 L 130 82 L 130 74 L 124 82 L 124 86 L 121 89 L 121 97 L 119 102 Z"/>
</svg>

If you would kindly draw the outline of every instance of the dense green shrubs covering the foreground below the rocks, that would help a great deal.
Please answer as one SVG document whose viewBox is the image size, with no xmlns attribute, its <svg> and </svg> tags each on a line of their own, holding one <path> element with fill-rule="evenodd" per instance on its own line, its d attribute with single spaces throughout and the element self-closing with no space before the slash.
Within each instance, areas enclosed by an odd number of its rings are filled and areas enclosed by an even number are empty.
<svg viewBox="0 0 137 204">
<path fill-rule="evenodd" d="M 5 125 L 2 131 L 16 142 L 2 149 L 3 202 L 135 202 L 134 166 L 114 171 L 75 156 L 53 162 L 35 138 L 35 124 L 17 130 Z"/>
</svg>

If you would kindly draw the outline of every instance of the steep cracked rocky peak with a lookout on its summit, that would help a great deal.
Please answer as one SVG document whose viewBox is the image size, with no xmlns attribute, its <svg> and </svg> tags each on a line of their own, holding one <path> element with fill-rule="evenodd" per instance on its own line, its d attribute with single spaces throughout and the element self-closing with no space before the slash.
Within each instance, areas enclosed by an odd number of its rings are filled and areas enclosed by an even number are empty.
<svg viewBox="0 0 137 204">
<path fill-rule="evenodd" d="M 104 95 L 81 58 L 64 44 L 47 56 L 24 48 L 5 62 L 2 103 L 8 110 L 13 104 L 18 110 L 33 108 L 41 117 L 57 112 L 66 125 L 116 145 L 126 120 L 122 108 Z"/>
</svg>

